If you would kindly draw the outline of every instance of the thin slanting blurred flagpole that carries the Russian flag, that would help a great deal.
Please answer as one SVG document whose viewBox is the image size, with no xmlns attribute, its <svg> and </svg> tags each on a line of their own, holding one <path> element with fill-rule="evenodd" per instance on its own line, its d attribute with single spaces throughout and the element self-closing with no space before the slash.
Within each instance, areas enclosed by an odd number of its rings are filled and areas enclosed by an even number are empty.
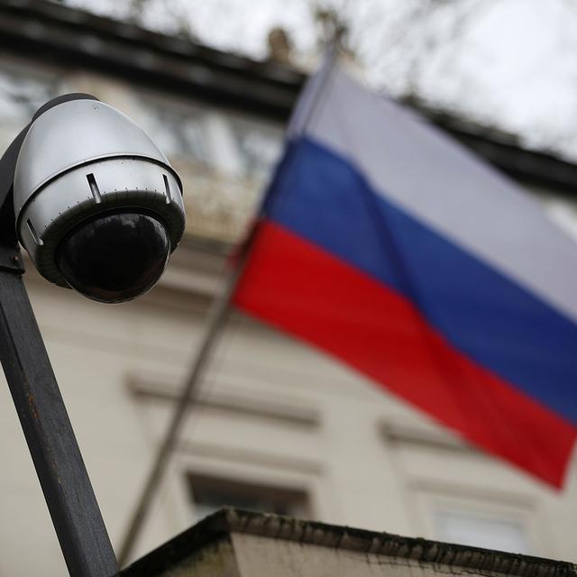
<svg viewBox="0 0 577 577">
<path fill-rule="evenodd" d="M 313 87 L 314 94 L 311 96 L 310 102 L 307 103 L 307 108 L 303 111 L 300 111 L 299 114 L 297 106 L 291 118 L 288 131 L 289 136 L 296 132 L 302 132 L 304 127 L 306 127 L 310 122 L 312 115 L 319 105 L 319 96 L 324 92 L 325 87 L 328 84 L 328 80 L 331 77 L 331 72 L 334 69 L 334 62 L 336 60 L 337 54 L 338 41 L 333 41 L 329 44 L 327 50 L 325 51 L 323 69 L 319 75 L 316 87 Z M 305 90 L 307 90 L 307 87 Z M 297 125 L 298 131 L 290 132 L 290 126 L 293 125 Z M 261 210 L 259 210 L 258 215 L 261 215 Z M 121 567 L 124 566 L 124 563 L 128 561 L 130 555 L 133 553 L 134 545 L 136 544 L 136 540 L 140 535 L 144 520 L 146 519 L 149 509 L 151 508 L 154 495 L 158 490 L 164 472 L 166 471 L 166 465 L 169 462 L 169 457 L 174 447 L 179 442 L 179 435 L 182 430 L 182 426 L 184 425 L 188 408 L 197 397 L 198 385 L 205 371 L 206 362 L 208 362 L 210 353 L 212 352 L 220 331 L 226 322 L 226 318 L 230 311 L 231 301 L 234 296 L 234 290 L 236 289 L 239 279 L 243 275 L 243 270 L 251 253 L 251 248 L 253 240 L 256 237 L 257 229 L 258 222 L 253 227 L 252 233 L 249 234 L 246 242 L 243 243 L 243 248 L 240 252 L 240 256 L 236 262 L 236 265 L 234 266 L 234 270 L 232 270 L 228 278 L 225 280 L 224 289 L 220 295 L 215 298 L 215 301 L 213 301 L 210 307 L 208 319 L 206 321 L 206 328 L 202 335 L 200 346 L 197 348 L 197 351 L 193 357 L 192 369 L 189 372 L 188 378 L 180 392 L 179 399 L 176 402 L 172 417 L 170 418 L 169 426 L 167 427 L 162 443 L 158 448 L 151 467 L 151 472 L 149 473 L 144 484 L 142 493 L 138 499 L 136 507 L 134 508 L 133 515 L 124 535 L 124 540 L 121 543 L 120 551 L 118 553 L 118 563 Z"/>
</svg>

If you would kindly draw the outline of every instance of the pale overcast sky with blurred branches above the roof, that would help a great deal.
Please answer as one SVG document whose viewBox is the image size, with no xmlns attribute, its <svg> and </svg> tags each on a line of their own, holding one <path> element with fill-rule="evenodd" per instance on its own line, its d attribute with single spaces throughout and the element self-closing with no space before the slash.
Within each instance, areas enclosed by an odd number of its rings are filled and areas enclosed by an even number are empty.
<svg viewBox="0 0 577 577">
<path fill-rule="evenodd" d="M 67 4 L 119 18 L 131 8 L 127 0 Z M 185 22 L 198 41 L 256 59 L 266 54 L 270 28 L 280 25 L 307 60 L 316 51 L 314 4 L 143 0 L 140 22 L 162 32 L 175 32 Z M 351 42 L 375 89 L 417 91 L 431 103 L 517 133 L 527 146 L 577 160 L 577 0 L 320 4 L 337 6 L 350 23 Z"/>
</svg>

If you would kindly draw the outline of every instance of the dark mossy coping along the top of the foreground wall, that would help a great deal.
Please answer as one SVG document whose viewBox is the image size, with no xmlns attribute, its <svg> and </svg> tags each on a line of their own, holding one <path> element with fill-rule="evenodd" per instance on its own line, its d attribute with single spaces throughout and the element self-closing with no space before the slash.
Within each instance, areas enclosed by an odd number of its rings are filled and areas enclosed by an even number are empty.
<svg viewBox="0 0 577 577">
<path fill-rule="evenodd" d="M 444 564 L 482 572 L 499 572 L 518 577 L 575 577 L 572 563 L 522 554 L 501 553 L 465 545 L 450 545 L 421 538 L 377 533 L 351 527 L 327 525 L 279 515 L 224 508 L 206 517 L 167 544 L 133 563 L 123 577 L 157 574 L 174 567 L 205 545 L 233 533 L 266 536 L 348 551 L 412 559 L 419 563 Z"/>
</svg>

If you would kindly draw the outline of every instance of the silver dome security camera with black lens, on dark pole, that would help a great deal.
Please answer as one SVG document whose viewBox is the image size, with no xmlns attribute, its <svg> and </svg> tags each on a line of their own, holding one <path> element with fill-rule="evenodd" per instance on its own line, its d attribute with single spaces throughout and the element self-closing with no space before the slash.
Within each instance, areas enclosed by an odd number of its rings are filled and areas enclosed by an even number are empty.
<svg viewBox="0 0 577 577">
<path fill-rule="evenodd" d="M 185 227 L 182 183 L 151 138 L 94 96 L 67 95 L 20 142 L 16 234 L 41 275 L 105 303 L 151 289 Z"/>
</svg>

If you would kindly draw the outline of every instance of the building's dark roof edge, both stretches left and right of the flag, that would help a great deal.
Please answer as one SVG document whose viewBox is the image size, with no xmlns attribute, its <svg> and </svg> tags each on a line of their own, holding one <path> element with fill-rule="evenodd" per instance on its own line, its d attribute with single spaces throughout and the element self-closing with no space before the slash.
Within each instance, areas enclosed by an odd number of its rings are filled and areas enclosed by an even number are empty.
<svg viewBox="0 0 577 577">
<path fill-rule="evenodd" d="M 76 65 L 142 86 L 285 121 L 306 76 L 194 41 L 45 0 L 0 0 L 0 50 Z M 493 166 L 527 185 L 577 195 L 577 164 L 523 148 L 514 138 L 412 104 Z"/>
</svg>

